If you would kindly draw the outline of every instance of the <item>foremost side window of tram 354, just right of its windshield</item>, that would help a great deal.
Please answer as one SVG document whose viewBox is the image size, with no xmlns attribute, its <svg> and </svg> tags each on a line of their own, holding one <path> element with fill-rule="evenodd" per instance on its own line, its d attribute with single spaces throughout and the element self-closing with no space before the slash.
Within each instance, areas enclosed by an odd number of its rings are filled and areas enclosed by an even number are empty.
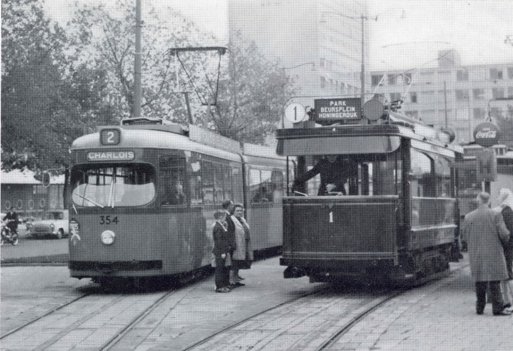
<svg viewBox="0 0 513 351">
<path fill-rule="evenodd" d="M 185 158 L 164 156 L 160 169 L 162 205 L 184 205 Z"/>
</svg>

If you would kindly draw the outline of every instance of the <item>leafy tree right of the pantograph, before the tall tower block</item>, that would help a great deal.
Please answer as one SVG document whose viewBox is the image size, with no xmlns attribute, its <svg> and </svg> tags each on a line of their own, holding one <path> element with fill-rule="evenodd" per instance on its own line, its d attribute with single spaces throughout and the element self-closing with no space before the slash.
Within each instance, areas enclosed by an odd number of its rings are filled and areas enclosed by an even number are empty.
<svg viewBox="0 0 513 351">
<path fill-rule="evenodd" d="M 254 42 L 245 44 L 240 34 L 229 49 L 230 65 L 223 72 L 218 106 L 205 124 L 235 140 L 265 143 L 295 94 L 292 81 L 277 61 L 267 60 Z M 207 83 L 214 92 L 212 82 Z"/>
</svg>

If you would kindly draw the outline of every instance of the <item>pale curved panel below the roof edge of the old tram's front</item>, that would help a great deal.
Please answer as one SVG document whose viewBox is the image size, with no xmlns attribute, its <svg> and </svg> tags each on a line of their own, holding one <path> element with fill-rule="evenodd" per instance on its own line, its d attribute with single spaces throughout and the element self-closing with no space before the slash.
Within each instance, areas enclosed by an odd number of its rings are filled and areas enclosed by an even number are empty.
<svg viewBox="0 0 513 351">
<path fill-rule="evenodd" d="M 374 154 L 399 149 L 401 138 L 388 135 L 317 136 L 278 139 L 277 153 L 282 156 Z"/>
</svg>

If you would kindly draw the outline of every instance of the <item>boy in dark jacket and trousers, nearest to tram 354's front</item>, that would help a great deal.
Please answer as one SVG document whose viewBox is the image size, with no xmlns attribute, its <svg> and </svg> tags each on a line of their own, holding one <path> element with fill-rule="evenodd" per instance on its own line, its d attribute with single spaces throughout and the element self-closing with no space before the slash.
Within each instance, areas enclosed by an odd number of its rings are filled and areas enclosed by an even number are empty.
<svg viewBox="0 0 513 351">
<path fill-rule="evenodd" d="M 215 223 L 212 228 L 215 257 L 215 291 L 218 293 L 230 292 L 230 271 L 227 267 L 227 259 L 230 255 L 230 238 L 226 224 L 226 212 L 218 210 L 214 212 Z"/>
</svg>

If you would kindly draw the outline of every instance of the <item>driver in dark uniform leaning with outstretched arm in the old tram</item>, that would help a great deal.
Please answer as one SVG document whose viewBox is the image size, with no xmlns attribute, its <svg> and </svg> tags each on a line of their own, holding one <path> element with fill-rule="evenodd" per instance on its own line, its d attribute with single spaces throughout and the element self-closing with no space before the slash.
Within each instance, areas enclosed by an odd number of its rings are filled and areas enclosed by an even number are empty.
<svg viewBox="0 0 513 351">
<path fill-rule="evenodd" d="M 328 195 L 331 192 L 347 195 L 345 183 L 356 167 L 354 163 L 351 159 L 343 158 L 342 156 L 326 155 L 311 170 L 299 175 L 294 180 L 292 191 L 305 181 L 320 174 L 321 184 L 318 195 Z"/>
</svg>

